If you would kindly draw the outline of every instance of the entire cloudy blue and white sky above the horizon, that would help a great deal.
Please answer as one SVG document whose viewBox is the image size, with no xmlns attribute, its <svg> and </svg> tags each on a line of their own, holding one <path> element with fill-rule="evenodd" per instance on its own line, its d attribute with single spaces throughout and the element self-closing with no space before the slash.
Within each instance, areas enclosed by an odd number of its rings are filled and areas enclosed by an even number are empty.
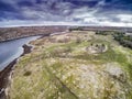
<svg viewBox="0 0 132 99">
<path fill-rule="evenodd" d="M 0 26 L 132 26 L 132 0 L 0 0 Z"/>
</svg>

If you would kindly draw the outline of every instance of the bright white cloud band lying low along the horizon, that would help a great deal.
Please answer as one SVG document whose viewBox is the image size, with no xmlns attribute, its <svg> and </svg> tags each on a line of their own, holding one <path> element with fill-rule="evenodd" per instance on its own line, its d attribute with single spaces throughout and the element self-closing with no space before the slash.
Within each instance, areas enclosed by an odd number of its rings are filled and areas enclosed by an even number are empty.
<svg viewBox="0 0 132 99">
<path fill-rule="evenodd" d="M 96 21 L 95 21 L 96 20 Z M 124 22 L 110 22 L 109 20 L 99 22 L 98 19 L 86 19 L 85 22 L 67 22 L 67 21 L 20 21 L 20 20 L 3 20 L 0 22 L 0 26 L 34 26 L 34 25 L 95 25 L 95 26 L 128 26 L 132 28 L 132 23 Z"/>
</svg>

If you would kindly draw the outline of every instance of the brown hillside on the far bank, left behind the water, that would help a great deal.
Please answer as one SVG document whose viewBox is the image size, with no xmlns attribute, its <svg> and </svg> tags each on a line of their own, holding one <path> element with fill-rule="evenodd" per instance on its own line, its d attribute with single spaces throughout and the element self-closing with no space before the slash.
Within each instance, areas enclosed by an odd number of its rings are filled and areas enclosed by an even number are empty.
<svg viewBox="0 0 132 99">
<path fill-rule="evenodd" d="M 0 28 L 0 42 L 34 35 L 50 35 L 51 33 L 64 32 L 66 30 L 67 26 Z"/>
</svg>

